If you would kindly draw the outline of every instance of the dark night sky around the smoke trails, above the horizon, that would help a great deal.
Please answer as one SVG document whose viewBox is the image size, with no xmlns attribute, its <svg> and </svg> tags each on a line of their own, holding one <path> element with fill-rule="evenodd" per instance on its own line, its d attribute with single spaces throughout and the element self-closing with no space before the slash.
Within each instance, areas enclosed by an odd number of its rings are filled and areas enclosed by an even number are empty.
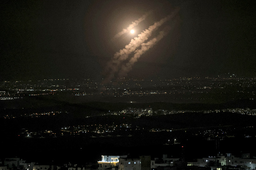
<svg viewBox="0 0 256 170">
<path fill-rule="evenodd" d="M 175 8 L 169 34 L 128 78 L 256 76 L 255 0 L 2 0 L 0 80 L 101 79 L 106 62 L 134 38 L 111 41 L 116 33 L 153 11 L 134 27 L 139 33 Z"/>
</svg>

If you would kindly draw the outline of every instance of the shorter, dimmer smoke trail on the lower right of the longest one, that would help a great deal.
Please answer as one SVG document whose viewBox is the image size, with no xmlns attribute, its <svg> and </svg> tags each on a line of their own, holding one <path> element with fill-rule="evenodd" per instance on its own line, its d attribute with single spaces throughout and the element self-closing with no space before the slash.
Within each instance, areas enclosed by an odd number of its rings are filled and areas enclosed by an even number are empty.
<svg viewBox="0 0 256 170">
<path fill-rule="evenodd" d="M 156 43 L 158 43 L 166 34 L 169 33 L 170 27 L 165 27 L 165 30 L 159 32 L 159 35 L 148 41 L 142 43 L 141 48 L 134 52 L 134 56 L 129 60 L 127 64 L 124 64 L 119 72 L 119 77 L 127 76 L 127 73 L 131 70 L 133 64 L 137 62 L 138 58 L 151 49 Z"/>
</svg>

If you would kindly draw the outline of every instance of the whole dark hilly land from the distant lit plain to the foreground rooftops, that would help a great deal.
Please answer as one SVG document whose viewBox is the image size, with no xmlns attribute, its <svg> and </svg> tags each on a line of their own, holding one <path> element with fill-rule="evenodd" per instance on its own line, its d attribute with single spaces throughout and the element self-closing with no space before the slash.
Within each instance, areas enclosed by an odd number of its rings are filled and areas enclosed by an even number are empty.
<svg viewBox="0 0 256 170">
<path fill-rule="evenodd" d="M 0 118 L 1 155 L 18 156 L 28 161 L 72 161 L 95 163 L 101 155 L 162 155 L 185 160 L 215 155 L 218 152 L 256 156 L 256 116 L 238 113 L 187 112 L 133 118 L 104 115 L 109 110 L 127 107 L 157 109 L 223 109 L 227 106 L 255 107 L 255 103 L 235 101 L 221 105 L 174 103 L 83 103 L 53 104 L 48 107 L 6 109 L 2 103 Z M 4 115 L 61 110 L 56 115 L 4 118 Z M 89 116 L 89 117 L 88 117 Z M 87 133 L 61 136 L 60 129 L 91 124 L 129 124 L 135 129 L 107 134 Z M 53 131 L 54 136 L 25 137 L 22 131 Z M 211 133 L 209 133 L 211 132 Z M 212 133 L 214 132 L 214 133 Z M 174 140 L 175 144 L 174 144 Z M 183 147 L 182 147 L 183 146 Z"/>
</svg>

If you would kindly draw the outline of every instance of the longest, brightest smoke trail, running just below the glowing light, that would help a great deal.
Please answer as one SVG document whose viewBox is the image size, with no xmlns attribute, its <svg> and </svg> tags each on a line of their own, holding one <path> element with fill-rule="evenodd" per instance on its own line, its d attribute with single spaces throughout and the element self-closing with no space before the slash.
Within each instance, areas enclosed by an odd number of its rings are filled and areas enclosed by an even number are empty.
<svg viewBox="0 0 256 170">
<path fill-rule="evenodd" d="M 177 14 L 177 12 L 178 9 L 175 9 L 175 11 L 171 15 L 168 15 L 165 18 L 162 18 L 160 21 L 155 22 L 153 25 L 148 27 L 148 29 L 141 32 L 137 37 L 131 39 L 131 42 L 126 45 L 124 49 L 116 52 L 115 55 L 112 57 L 111 61 L 106 64 L 106 69 L 104 72 L 106 78 L 104 79 L 103 83 L 110 82 L 116 76 L 116 73 L 118 73 L 120 69 L 125 70 L 125 67 L 121 68 L 122 62 L 127 60 L 132 52 L 135 52 L 135 50 L 139 46 L 147 41 L 147 39 L 152 35 L 153 31 L 156 31 L 160 26 L 162 26 L 162 24 L 173 18 Z"/>
</svg>

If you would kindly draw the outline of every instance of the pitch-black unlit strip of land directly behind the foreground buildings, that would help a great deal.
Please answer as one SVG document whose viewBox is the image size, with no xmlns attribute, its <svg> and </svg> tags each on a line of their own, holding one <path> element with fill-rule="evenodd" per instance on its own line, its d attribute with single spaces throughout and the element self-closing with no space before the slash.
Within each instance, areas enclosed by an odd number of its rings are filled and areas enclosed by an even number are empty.
<svg viewBox="0 0 256 170">
<path fill-rule="evenodd" d="M 57 137 L 57 138 L 2 138 L 1 154 L 5 157 L 18 156 L 27 161 L 55 161 L 85 164 L 96 163 L 101 155 L 152 155 L 168 154 L 186 161 L 194 158 L 215 156 L 217 153 L 256 154 L 255 137 L 232 137 L 223 140 L 206 140 L 203 137 L 178 136 L 181 143 L 168 144 L 166 133 L 144 133 L 132 137 Z M 183 147 L 182 147 L 183 146 Z M 216 147 L 218 146 L 218 147 Z"/>
</svg>

